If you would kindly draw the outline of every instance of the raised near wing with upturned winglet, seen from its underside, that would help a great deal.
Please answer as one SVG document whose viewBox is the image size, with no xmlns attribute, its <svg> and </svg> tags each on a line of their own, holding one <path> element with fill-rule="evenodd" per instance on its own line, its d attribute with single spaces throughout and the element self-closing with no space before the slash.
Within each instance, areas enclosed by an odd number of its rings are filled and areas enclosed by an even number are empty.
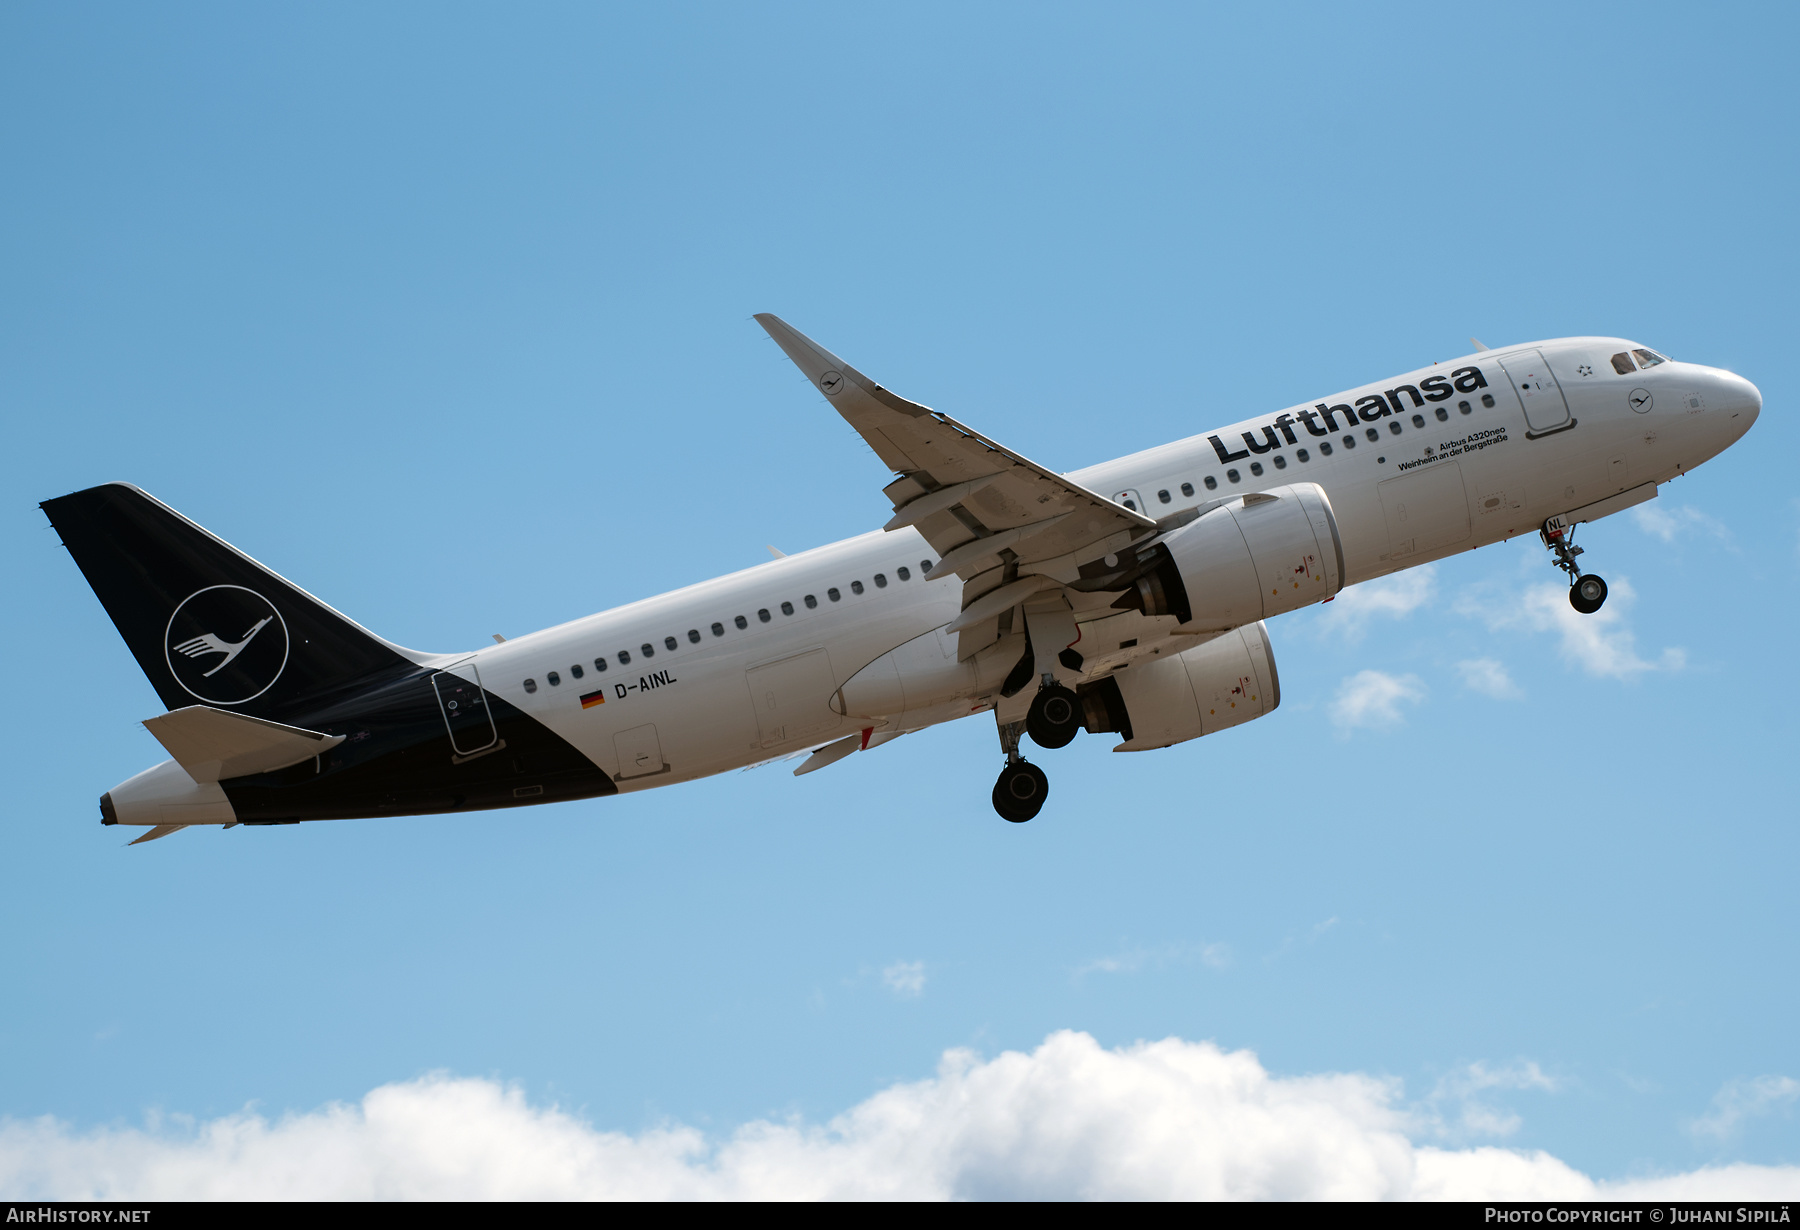
<svg viewBox="0 0 1800 1230">
<path fill-rule="evenodd" d="M 900 477 L 884 490 L 895 515 L 884 526 L 916 526 L 938 553 L 931 576 L 956 573 L 965 582 L 1003 564 L 1033 573 L 1033 564 L 1073 578 L 1062 556 L 1084 560 L 1114 544 L 1150 533 L 1157 524 L 1103 495 L 1046 470 L 949 414 L 909 402 L 875 384 L 842 358 L 779 317 L 756 317 L 814 387 Z M 963 605 L 992 583 L 967 587 Z M 1017 582 L 1012 582 L 1017 583 Z M 976 591 L 976 592 L 968 592 Z"/>
</svg>

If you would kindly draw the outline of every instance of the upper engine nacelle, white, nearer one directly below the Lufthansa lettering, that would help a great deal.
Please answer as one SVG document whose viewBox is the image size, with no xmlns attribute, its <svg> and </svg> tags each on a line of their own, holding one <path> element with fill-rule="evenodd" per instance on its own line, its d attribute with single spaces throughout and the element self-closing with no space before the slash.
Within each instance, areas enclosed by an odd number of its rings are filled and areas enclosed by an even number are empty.
<svg viewBox="0 0 1800 1230">
<path fill-rule="evenodd" d="M 1235 629 L 1325 601 L 1343 589 L 1345 549 L 1325 488 L 1249 492 L 1166 535 L 1157 564 L 1116 605 Z"/>
</svg>

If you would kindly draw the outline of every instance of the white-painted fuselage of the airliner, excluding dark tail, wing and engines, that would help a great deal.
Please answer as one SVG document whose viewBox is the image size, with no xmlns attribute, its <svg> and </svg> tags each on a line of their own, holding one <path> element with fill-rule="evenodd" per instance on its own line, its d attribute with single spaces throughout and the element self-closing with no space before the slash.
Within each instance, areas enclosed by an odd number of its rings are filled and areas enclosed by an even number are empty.
<svg viewBox="0 0 1800 1230">
<path fill-rule="evenodd" d="M 1363 400 L 1373 412 L 1373 398 L 1399 400 L 1399 412 L 1390 405 L 1373 421 L 1359 416 L 1350 427 L 1339 412 L 1334 429 L 1319 434 L 1323 416 L 1307 403 L 1067 477 L 1120 502 L 1129 499 L 1154 519 L 1226 495 L 1318 483 L 1337 517 L 1345 583 L 1355 583 L 1667 483 L 1755 421 L 1760 394 L 1746 380 L 1681 362 L 1615 371 L 1609 357 L 1631 349 L 1634 344 L 1622 339 L 1559 339 L 1483 351 L 1318 403 L 1355 407 Z M 1544 366 L 1548 376 L 1535 373 Z M 1427 387 L 1433 378 L 1438 384 L 1429 387 L 1444 389 L 1449 373 L 1469 367 L 1485 378 L 1472 393 L 1418 407 L 1413 394 L 1386 396 L 1404 385 Z M 1521 380 L 1534 375 L 1553 380 L 1552 394 L 1561 385 L 1564 418 L 1573 425 L 1557 421 L 1561 409 L 1528 407 L 1534 389 Z M 1494 403 L 1485 405 L 1481 394 Z M 1262 452 L 1251 452 L 1246 436 Z M 1348 447 L 1345 436 L 1352 438 Z M 934 551 L 911 528 L 866 533 L 434 665 L 472 681 L 479 672 L 482 686 L 569 740 L 619 789 L 684 782 L 862 728 L 918 729 L 992 708 L 992 686 L 983 692 L 985 684 L 967 679 L 943 695 L 909 695 L 905 713 L 889 720 L 846 717 L 828 704 L 866 665 L 918 638 L 931 638 L 920 652 L 940 654 L 954 675 L 954 638 L 932 632 L 956 618 L 961 582 L 923 580 L 931 562 Z M 1154 652 L 1174 621 L 1141 623 L 1139 643 L 1116 652 L 1107 668 Z M 770 719 L 760 710 L 765 675 L 779 675 L 788 690 L 808 690 L 806 704 Z M 605 702 L 592 702 L 594 692 L 603 692 Z M 587 708 L 583 697 L 590 699 Z"/>
</svg>

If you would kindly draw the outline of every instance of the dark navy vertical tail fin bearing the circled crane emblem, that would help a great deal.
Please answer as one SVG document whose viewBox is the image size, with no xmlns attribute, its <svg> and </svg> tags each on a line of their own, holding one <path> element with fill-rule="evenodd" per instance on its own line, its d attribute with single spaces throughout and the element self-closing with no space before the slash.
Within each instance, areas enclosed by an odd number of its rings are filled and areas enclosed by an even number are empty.
<svg viewBox="0 0 1800 1230">
<path fill-rule="evenodd" d="M 169 710 L 279 720 L 421 661 L 128 483 L 40 508 Z"/>
</svg>

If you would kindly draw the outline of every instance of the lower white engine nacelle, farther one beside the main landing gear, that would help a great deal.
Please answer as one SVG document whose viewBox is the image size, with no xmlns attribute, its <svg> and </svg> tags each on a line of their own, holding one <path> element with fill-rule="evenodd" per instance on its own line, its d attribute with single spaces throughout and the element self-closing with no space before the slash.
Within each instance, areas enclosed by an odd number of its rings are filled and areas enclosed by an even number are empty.
<svg viewBox="0 0 1800 1230">
<path fill-rule="evenodd" d="M 1134 663 L 1084 684 L 1084 726 L 1118 731 L 1112 751 L 1152 751 L 1269 713 L 1282 702 L 1274 650 L 1260 621 L 1170 657 Z"/>
</svg>

